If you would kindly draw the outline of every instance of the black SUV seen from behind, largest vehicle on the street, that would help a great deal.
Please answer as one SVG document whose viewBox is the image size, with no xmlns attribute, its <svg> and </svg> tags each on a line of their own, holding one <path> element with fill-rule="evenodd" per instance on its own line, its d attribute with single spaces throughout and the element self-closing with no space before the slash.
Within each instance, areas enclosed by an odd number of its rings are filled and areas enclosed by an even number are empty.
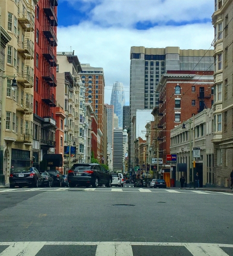
<svg viewBox="0 0 233 256">
<path fill-rule="evenodd" d="M 74 188 L 76 185 L 93 188 L 101 184 L 111 187 L 112 175 L 100 164 L 74 164 L 68 171 L 69 187 Z"/>
</svg>

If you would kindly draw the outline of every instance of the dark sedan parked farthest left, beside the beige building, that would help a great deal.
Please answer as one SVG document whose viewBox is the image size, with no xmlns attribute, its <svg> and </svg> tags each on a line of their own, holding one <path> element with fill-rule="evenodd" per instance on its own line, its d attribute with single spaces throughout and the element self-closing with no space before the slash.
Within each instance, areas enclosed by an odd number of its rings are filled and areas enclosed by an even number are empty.
<svg viewBox="0 0 233 256">
<path fill-rule="evenodd" d="M 17 167 L 12 170 L 9 182 L 10 188 L 15 186 L 38 188 L 43 185 L 43 176 L 35 167 Z"/>
</svg>

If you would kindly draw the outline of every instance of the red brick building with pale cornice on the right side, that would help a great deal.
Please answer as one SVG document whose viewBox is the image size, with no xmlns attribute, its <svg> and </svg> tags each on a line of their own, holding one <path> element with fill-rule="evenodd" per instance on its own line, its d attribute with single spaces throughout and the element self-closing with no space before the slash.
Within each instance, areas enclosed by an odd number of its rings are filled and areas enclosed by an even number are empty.
<svg viewBox="0 0 233 256">
<path fill-rule="evenodd" d="M 166 156 L 170 153 L 170 130 L 203 109 L 211 108 L 213 72 L 168 71 L 162 76 L 156 91 L 159 92 L 158 122 L 155 127 L 159 131 L 159 158 L 163 158 L 165 164 L 162 166 L 163 178 L 169 181 L 170 177 L 166 176 L 170 176 L 170 166 Z"/>
</svg>

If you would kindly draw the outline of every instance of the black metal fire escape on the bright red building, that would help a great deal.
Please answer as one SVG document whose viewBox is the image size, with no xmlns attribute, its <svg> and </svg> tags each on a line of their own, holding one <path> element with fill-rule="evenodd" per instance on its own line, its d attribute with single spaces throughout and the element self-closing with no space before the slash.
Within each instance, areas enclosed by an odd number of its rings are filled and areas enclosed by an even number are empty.
<svg viewBox="0 0 233 256">
<path fill-rule="evenodd" d="M 47 25 L 43 26 L 43 35 L 48 41 L 47 46 L 42 49 L 42 55 L 48 63 L 48 67 L 42 70 L 42 79 L 48 84 L 49 90 L 42 95 L 42 101 L 49 106 L 49 115 L 43 117 L 44 133 L 41 135 L 41 146 L 54 148 L 55 138 L 52 129 L 56 127 L 55 117 L 53 118 L 53 108 L 57 106 L 55 99 L 55 87 L 57 81 L 54 76 L 55 67 L 57 66 L 57 60 L 55 56 L 57 46 L 57 38 L 55 27 L 57 26 L 57 17 L 55 7 L 58 5 L 57 0 L 43 0 L 43 11 L 48 19 Z"/>
</svg>

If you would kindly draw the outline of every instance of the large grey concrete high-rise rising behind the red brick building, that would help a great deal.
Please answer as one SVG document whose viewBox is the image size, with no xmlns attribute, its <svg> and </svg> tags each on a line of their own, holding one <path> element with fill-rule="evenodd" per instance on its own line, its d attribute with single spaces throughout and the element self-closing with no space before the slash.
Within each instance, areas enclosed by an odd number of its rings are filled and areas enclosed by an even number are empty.
<svg viewBox="0 0 233 256">
<path fill-rule="evenodd" d="M 155 93 L 161 76 L 167 70 L 213 70 L 213 50 L 180 50 L 179 47 L 130 50 L 130 122 L 137 109 L 153 109 L 158 105 Z M 132 123 L 130 125 L 132 131 Z M 130 136 L 129 159 L 135 164 L 135 137 Z"/>
</svg>

